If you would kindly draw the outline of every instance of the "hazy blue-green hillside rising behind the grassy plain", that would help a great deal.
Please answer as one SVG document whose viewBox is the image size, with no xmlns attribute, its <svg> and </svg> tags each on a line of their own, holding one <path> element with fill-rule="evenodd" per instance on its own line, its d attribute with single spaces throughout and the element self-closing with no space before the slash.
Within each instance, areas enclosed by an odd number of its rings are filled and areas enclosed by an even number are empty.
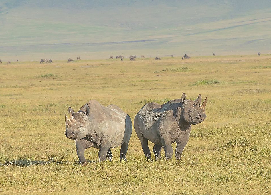
<svg viewBox="0 0 271 195">
<path fill-rule="evenodd" d="M 270 53 L 271 1 L 1 0 L 0 59 Z"/>
</svg>

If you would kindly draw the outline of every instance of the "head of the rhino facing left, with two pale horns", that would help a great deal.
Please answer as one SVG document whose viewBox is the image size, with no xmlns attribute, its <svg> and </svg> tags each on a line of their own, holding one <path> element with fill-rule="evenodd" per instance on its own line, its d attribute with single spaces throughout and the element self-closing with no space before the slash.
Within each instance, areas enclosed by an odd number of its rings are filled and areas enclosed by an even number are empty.
<svg viewBox="0 0 271 195">
<path fill-rule="evenodd" d="M 88 105 L 84 105 L 83 109 L 80 109 L 78 112 L 74 112 L 71 107 L 69 107 L 68 111 L 70 112 L 70 119 L 68 119 L 65 113 L 66 137 L 73 140 L 86 137 L 88 134 L 88 115 L 90 113 Z"/>
</svg>

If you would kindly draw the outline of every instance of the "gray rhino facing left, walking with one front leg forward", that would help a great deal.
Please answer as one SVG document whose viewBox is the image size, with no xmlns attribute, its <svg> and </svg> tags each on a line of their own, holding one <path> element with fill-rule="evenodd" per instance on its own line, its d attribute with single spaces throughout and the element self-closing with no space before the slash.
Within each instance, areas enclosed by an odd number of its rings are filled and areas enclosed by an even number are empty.
<svg viewBox="0 0 271 195">
<path fill-rule="evenodd" d="M 84 151 L 92 146 L 99 149 L 99 161 L 111 161 L 110 148 L 121 145 L 120 159 L 126 161 L 132 134 L 132 121 L 128 114 L 116 105 L 104 107 L 96 100 L 90 100 L 78 112 L 71 107 L 68 111 L 70 119 L 65 114 L 65 135 L 76 140 L 76 152 L 82 166 L 87 164 Z"/>
</svg>

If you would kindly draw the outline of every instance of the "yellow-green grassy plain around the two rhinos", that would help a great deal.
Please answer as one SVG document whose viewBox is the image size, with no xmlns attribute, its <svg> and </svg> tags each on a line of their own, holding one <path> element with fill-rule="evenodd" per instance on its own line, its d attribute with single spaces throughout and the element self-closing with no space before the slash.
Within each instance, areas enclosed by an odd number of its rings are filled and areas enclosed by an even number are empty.
<svg viewBox="0 0 271 195">
<path fill-rule="evenodd" d="M 127 162 L 115 148 L 112 162 L 99 163 L 90 148 L 88 165 L 79 166 L 75 143 L 64 135 L 69 106 L 96 99 L 133 120 L 145 103 L 182 92 L 208 103 L 181 161 L 145 161 L 133 132 Z M 270 55 L 3 63 L 0 193 L 270 194 L 270 94 Z"/>
</svg>

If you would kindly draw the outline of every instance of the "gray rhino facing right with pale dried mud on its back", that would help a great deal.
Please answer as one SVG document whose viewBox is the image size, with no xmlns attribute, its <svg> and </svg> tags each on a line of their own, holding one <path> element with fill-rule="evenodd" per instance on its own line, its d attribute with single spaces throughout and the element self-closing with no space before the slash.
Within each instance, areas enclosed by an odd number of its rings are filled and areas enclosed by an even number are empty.
<svg viewBox="0 0 271 195">
<path fill-rule="evenodd" d="M 181 154 L 188 142 L 191 124 L 201 123 L 206 118 L 205 106 L 207 98 L 201 103 L 201 95 L 195 101 L 185 99 L 168 101 L 160 105 L 155 102 L 145 104 L 134 119 L 134 128 L 141 142 L 145 157 L 151 159 L 148 141 L 154 143 L 153 152 L 155 159 L 161 159 L 161 149 L 165 150 L 166 159 L 173 155 L 172 143 L 176 142 L 176 159 L 181 159 Z"/>
</svg>

